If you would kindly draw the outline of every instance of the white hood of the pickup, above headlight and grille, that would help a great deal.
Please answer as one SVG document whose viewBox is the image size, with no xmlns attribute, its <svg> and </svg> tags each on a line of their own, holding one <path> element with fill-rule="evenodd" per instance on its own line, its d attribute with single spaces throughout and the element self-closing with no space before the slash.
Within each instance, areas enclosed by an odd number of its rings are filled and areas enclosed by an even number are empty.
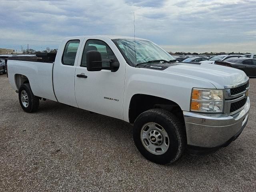
<svg viewBox="0 0 256 192">
<path fill-rule="evenodd" d="M 166 68 L 163 72 L 204 80 L 212 83 L 217 89 L 245 82 L 248 78 L 242 70 L 207 63 L 178 63 Z"/>
</svg>

